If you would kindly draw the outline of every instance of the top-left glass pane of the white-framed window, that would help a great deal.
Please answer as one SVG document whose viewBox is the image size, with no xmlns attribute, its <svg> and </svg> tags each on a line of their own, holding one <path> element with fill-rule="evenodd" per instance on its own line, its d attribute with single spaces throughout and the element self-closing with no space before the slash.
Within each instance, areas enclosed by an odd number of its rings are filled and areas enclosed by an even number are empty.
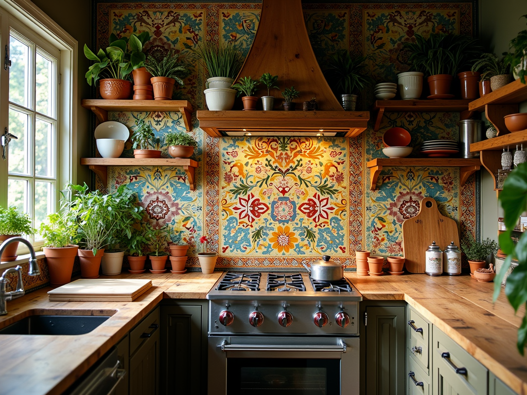
<svg viewBox="0 0 527 395">
<path fill-rule="evenodd" d="M 9 38 L 9 100 L 24 107 L 30 107 L 30 47 L 18 41 L 15 37 Z"/>
</svg>

